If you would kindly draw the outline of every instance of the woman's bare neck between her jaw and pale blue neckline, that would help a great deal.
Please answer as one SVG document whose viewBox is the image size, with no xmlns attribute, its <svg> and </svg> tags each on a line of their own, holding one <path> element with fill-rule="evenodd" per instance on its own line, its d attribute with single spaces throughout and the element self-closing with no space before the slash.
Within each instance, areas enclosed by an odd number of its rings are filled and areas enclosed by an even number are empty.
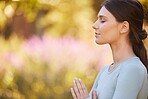
<svg viewBox="0 0 148 99">
<path fill-rule="evenodd" d="M 136 56 L 133 52 L 132 46 L 127 42 L 118 44 L 110 44 L 113 54 L 114 64 L 119 64 L 131 57 Z"/>
</svg>

